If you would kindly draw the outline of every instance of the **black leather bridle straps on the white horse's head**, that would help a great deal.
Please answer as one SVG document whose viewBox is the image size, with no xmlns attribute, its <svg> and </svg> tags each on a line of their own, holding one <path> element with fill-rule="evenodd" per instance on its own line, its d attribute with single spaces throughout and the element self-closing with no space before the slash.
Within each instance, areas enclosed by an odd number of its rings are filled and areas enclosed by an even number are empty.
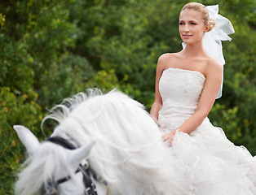
<svg viewBox="0 0 256 195">
<path fill-rule="evenodd" d="M 76 147 L 66 141 L 62 137 L 48 137 L 46 141 L 50 141 L 51 143 L 54 143 L 56 145 L 60 145 L 68 150 L 75 150 Z M 84 165 L 79 164 L 79 167 L 77 168 L 77 171 L 75 173 L 82 172 L 83 175 L 83 184 L 86 188 L 84 195 L 98 195 L 97 189 L 93 181 L 91 180 L 90 176 L 92 176 L 95 180 L 98 180 L 102 182 L 105 185 L 108 185 L 108 183 L 103 180 L 99 175 L 97 175 L 96 171 L 94 171 L 92 168 L 90 168 L 89 163 L 86 161 Z M 64 178 L 61 178 L 60 180 L 51 181 L 48 180 L 47 184 L 42 185 L 42 194 L 47 195 L 57 195 L 58 194 L 58 185 L 63 184 L 64 182 L 70 180 L 70 176 L 66 176 Z"/>
</svg>

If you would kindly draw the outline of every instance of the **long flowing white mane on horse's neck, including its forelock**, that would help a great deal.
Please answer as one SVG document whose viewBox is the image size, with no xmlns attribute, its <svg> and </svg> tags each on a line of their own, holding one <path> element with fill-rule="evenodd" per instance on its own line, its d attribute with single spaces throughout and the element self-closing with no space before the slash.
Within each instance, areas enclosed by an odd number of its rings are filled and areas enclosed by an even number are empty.
<svg viewBox="0 0 256 195">
<path fill-rule="evenodd" d="M 157 195 L 170 194 L 170 191 L 171 194 L 179 194 L 182 191 L 183 184 L 175 180 L 177 171 L 172 169 L 175 162 L 161 141 L 157 124 L 143 105 L 125 94 L 114 90 L 103 95 L 97 89 L 78 93 L 55 106 L 42 123 L 46 119 L 59 122 L 53 136 L 63 137 L 77 147 L 95 141 L 89 163 L 108 181 L 108 194 Z M 56 146 L 44 145 L 38 151 L 38 157 L 33 157 L 32 163 L 21 172 L 18 189 L 29 180 L 37 180 L 34 182 L 37 187 L 34 188 L 41 187 L 42 182 L 52 176 L 55 167 L 60 166 L 60 158 L 64 159 L 61 152 L 49 153 L 47 147 Z M 46 163 L 49 163 L 50 169 L 47 169 Z M 61 166 L 66 167 L 67 164 Z M 40 171 L 29 175 L 38 167 Z M 70 172 L 71 169 L 67 167 L 67 170 Z M 31 178 L 26 177 L 27 174 Z"/>
</svg>

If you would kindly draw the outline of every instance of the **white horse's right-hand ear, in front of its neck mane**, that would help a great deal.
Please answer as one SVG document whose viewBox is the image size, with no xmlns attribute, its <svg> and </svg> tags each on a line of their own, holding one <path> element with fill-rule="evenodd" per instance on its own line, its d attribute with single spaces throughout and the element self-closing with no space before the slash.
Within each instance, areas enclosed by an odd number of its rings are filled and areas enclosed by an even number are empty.
<svg viewBox="0 0 256 195">
<path fill-rule="evenodd" d="M 95 141 L 90 141 L 90 143 L 88 145 L 84 145 L 81 148 L 72 150 L 71 154 L 68 155 L 70 162 L 80 163 L 82 161 L 82 159 L 86 158 L 89 155 L 90 150 L 93 145 L 95 145 Z"/>
</svg>

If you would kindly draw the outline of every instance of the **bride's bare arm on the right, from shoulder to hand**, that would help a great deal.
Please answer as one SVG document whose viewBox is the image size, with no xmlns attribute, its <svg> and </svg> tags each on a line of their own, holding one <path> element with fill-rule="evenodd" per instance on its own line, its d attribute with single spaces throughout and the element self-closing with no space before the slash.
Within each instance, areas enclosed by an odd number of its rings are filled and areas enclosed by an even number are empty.
<svg viewBox="0 0 256 195">
<path fill-rule="evenodd" d="M 174 132 L 166 134 L 165 141 L 171 143 L 174 134 L 177 130 L 179 132 L 191 133 L 194 131 L 207 117 L 212 106 L 214 105 L 215 98 L 218 94 L 218 89 L 222 82 L 223 66 L 215 61 L 207 64 L 205 67 L 205 86 L 201 93 L 201 98 L 196 107 L 195 113 L 188 118 L 179 128 Z"/>
</svg>

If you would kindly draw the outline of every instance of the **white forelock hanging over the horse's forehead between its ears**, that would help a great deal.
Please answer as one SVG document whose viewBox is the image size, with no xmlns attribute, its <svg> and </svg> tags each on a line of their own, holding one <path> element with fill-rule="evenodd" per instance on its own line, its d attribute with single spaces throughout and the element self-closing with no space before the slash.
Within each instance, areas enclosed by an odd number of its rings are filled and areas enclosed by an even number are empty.
<svg viewBox="0 0 256 195">
<path fill-rule="evenodd" d="M 20 195 L 40 194 L 42 185 L 49 180 L 59 180 L 64 176 L 74 179 L 74 171 L 68 162 L 65 149 L 59 145 L 42 143 L 38 151 L 24 164 L 26 167 L 20 172 L 19 180 L 15 184 L 15 191 Z"/>
</svg>

